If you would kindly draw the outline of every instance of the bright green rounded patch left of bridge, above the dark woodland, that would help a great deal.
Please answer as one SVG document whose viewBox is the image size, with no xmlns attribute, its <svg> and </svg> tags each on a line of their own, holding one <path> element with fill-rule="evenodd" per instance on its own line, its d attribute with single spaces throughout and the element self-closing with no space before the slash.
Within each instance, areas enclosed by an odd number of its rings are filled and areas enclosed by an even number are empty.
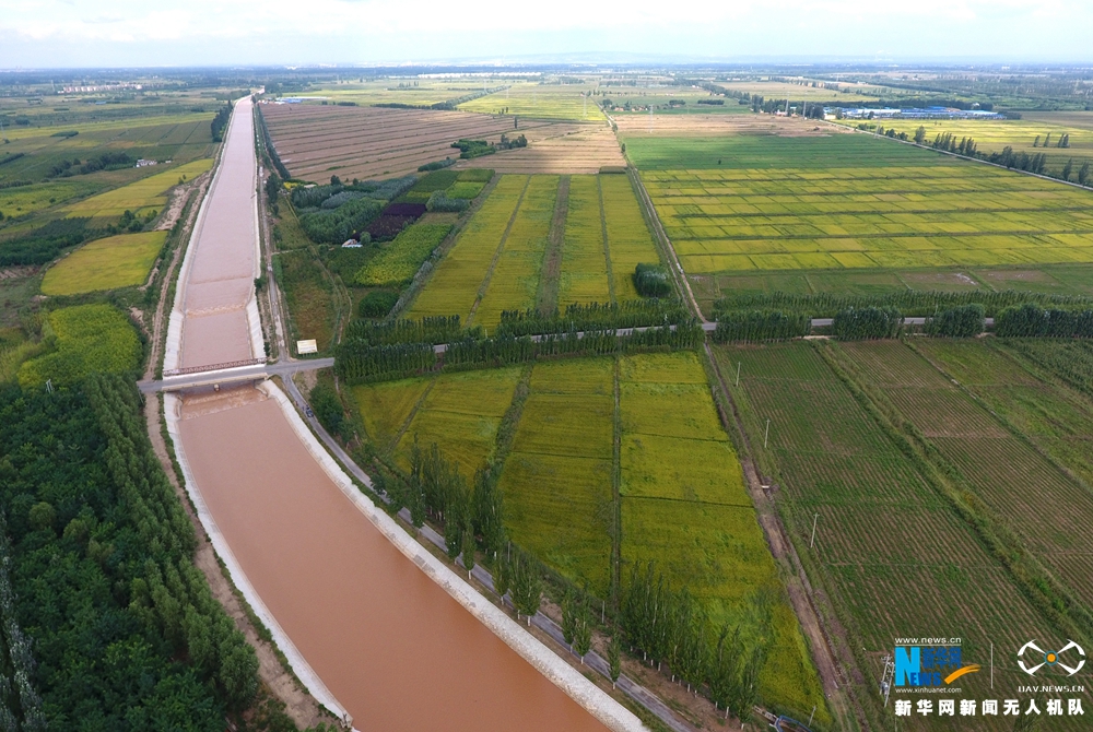
<svg viewBox="0 0 1093 732">
<path fill-rule="evenodd" d="M 140 366 L 141 344 L 129 319 L 110 305 L 78 305 L 49 314 L 43 327 L 49 352 L 19 370 L 24 388 L 79 382 L 93 371 L 126 373 Z"/>
</svg>

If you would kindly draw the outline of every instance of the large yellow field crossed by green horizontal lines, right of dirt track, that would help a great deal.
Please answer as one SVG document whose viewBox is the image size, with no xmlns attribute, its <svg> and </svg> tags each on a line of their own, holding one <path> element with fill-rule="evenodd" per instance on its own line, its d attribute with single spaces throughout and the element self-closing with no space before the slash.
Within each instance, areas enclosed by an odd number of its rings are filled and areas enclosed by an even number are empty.
<svg viewBox="0 0 1093 732">
<path fill-rule="evenodd" d="M 643 180 L 689 273 L 1093 262 L 1088 192 L 983 165 Z"/>
</svg>

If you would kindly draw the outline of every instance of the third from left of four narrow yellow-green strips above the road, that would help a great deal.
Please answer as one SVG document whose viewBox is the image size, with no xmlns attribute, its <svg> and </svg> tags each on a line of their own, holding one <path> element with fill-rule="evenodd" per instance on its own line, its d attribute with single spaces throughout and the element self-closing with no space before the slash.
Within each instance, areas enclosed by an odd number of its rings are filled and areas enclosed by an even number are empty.
<svg viewBox="0 0 1093 732">
<path fill-rule="evenodd" d="M 574 303 L 610 300 L 598 177 L 573 176 L 557 303 L 564 309 Z"/>
</svg>

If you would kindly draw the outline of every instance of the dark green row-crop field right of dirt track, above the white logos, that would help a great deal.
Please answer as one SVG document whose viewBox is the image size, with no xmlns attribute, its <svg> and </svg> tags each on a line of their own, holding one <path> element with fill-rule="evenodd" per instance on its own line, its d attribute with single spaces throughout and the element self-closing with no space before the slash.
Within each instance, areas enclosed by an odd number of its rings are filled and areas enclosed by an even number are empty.
<svg viewBox="0 0 1093 732">
<path fill-rule="evenodd" d="M 741 365 L 740 386 L 730 381 L 730 392 L 755 457 L 778 486 L 779 512 L 813 583 L 834 606 L 842 628 L 836 645 L 856 658 L 863 680 L 854 684 L 855 695 L 873 724 L 883 728 L 879 705 L 865 700 L 878 698 L 872 680 L 880 677 L 882 658 L 905 628 L 960 637 L 965 661 L 979 663 L 990 644 L 1020 647 L 1049 621 L 859 404 L 820 347 L 803 342 L 718 346 L 716 354 L 722 373 Z M 854 353 L 892 364 L 891 349 L 918 358 L 898 343 L 856 344 Z M 874 367 L 870 361 L 863 371 Z M 901 373 L 885 389 L 897 390 L 907 380 Z M 767 418 L 769 446 L 764 449 Z M 1020 683 L 1014 668 L 996 665 L 995 674 L 996 682 Z M 961 683 L 968 696 L 989 695 L 990 681 L 983 674 Z M 1066 729 L 1079 725 L 1071 721 Z"/>
</svg>

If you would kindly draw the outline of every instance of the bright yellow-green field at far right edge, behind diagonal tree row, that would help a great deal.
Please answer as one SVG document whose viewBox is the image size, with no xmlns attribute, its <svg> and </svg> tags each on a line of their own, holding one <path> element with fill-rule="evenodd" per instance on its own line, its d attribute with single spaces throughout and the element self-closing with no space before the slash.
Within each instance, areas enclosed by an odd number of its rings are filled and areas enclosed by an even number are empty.
<svg viewBox="0 0 1093 732">
<path fill-rule="evenodd" d="M 1058 114 L 1067 115 L 1067 113 Z M 955 135 L 957 141 L 961 138 L 972 138 L 983 153 L 1000 153 L 1003 147 L 1012 147 L 1015 153 L 1023 152 L 1029 155 L 1044 153 L 1047 155 L 1046 172 L 1055 176 L 1059 175 L 1062 166 L 1072 158 L 1073 169 L 1070 179 L 1076 180 L 1082 164 L 1085 161 L 1093 161 L 1093 129 L 1090 129 L 1088 123 L 1084 127 L 1068 123 L 1068 119 L 1078 114 L 1081 113 L 1070 113 L 1056 118 L 1055 113 L 1041 113 L 1034 119 L 1025 119 L 1024 115 L 1022 119 L 921 121 L 893 119 L 882 123 L 885 129 L 891 127 L 897 133 L 906 132 L 909 138 L 914 138 L 915 130 L 921 126 L 926 128 L 926 144 L 932 143 L 937 135 L 948 132 Z M 1065 134 L 1070 135 L 1069 147 L 1058 146 Z"/>
</svg>

